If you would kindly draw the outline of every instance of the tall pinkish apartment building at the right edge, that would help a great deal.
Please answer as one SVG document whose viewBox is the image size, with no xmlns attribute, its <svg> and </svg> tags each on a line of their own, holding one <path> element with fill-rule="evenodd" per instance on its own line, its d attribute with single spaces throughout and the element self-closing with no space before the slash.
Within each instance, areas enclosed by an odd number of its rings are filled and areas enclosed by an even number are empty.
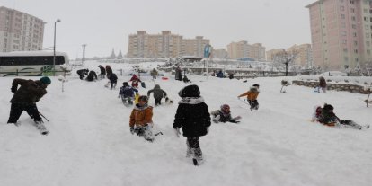
<svg viewBox="0 0 372 186">
<path fill-rule="evenodd" d="M 369 0 L 319 0 L 310 13 L 314 66 L 340 70 L 372 63 Z"/>
</svg>

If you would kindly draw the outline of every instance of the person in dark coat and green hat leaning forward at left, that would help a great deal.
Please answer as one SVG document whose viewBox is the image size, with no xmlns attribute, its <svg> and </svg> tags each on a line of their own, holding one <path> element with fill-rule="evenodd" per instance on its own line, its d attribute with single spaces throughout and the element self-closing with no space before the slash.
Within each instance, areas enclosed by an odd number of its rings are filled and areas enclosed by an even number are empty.
<svg viewBox="0 0 372 186">
<path fill-rule="evenodd" d="M 49 77 L 41 77 L 40 80 L 25 80 L 16 78 L 13 80 L 11 91 L 14 93 L 8 123 L 17 125 L 23 111 L 26 111 L 39 128 L 42 119 L 36 106 L 42 96 L 47 94 L 46 88 L 51 83 Z M 21 85 L 19 89 L 18 85 Z M 45 128 L 45 126 L 42 125 Z"/>
</svg>

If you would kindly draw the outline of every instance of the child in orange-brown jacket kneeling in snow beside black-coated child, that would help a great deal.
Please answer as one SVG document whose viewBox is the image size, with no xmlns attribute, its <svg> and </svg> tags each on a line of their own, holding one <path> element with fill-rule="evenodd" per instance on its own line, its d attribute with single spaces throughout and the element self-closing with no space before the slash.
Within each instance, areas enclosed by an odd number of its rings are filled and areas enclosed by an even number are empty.
<svg viewBox="0 0 372 186">
<path fill-rule="evenodd" d="M 153 142 L 153 107 L 148 106 L 147 102 L 146 95 L 139 96 L 138 103 L 130 114 L 129 127 L 130 133 L 136 133 L 137 136 L 143 136 L 147 141 Z"/>
</svg>

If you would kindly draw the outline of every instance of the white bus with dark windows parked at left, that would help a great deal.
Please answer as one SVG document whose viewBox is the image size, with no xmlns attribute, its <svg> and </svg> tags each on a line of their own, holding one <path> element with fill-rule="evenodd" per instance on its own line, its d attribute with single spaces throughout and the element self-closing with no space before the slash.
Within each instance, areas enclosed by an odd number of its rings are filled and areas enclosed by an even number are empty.
<svg viewBox="0 0 372 186">
<path fill-rule="evenodd" d="M 0 52 L 0 76 L 51 76 L 68 75 L 69 67 L 66 53 L 56 52 L 53 71 L 53 52 L 50 51 L 13 51 Z"/>
</svg>

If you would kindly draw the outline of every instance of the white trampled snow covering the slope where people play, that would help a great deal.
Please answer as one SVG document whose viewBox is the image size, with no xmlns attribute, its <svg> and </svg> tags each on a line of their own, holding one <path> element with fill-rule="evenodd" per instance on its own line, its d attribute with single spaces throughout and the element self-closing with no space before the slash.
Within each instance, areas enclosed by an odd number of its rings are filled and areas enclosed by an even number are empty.
<svg viewBox="0 0 372 186">
<path fill-rule="evenodd" d="M 89 69 L 99 64 L 86 62 Z M 108 64 L 102 64 L 108 65 Z M 128 64 L 110 64 L 116 70 L 131 70 Z M 146 63 L 149 69 L 154 64 Z M 98 70 L 98 68 L 97 68 Z M 119 85 L 130 76 L 119 76 Z M 231 106 L 241 123 L 214 124 L 209 135 L 200 137 L 205 163 L 192 165 L 185 157 L 186 138 L 173 134 L 173 120 L 183 84 L 156 80 L 174 103 L 154 108 L 154 143 L 129 132 L 126 108 L 117 98 L 119 87 L 109 90 L 107 80 L 81 81 L 75 73 L 67 77 L 64 92 L 58 77 L 51 77 L 48 94 L 38 103 L 50 121 L 48 136 L 41 136 L 23 112 L 20 127 L 7 125 L 13 93 L 13 77 L 0 78 L 0 185 L 12 186 L 205 186 L 205 185 L 319 185 L 368 186 L 372 184 L 371 129 L 331 128 L 311 122 L 314 105 L 331 103 L 341 119 L 370 124 L 372 108 L 367 95 L 290 85 L 280 93 L 283 77 L 229 80 L 188 75 L 214 111 L 223 103 Z M 38 79 L 38 77 L 23 77 Z M 154 86 L 143 77 L 146 92 Z M 296 77 L 289 77 L 296 78 Z M 260 109 L 249 111 L 237 95 L 252 84 L 260 84 Z M 151 97 L 150 104 L 154 105 Z M 164 101 L 163 101 L 164 102 Z"/>
</svg>

